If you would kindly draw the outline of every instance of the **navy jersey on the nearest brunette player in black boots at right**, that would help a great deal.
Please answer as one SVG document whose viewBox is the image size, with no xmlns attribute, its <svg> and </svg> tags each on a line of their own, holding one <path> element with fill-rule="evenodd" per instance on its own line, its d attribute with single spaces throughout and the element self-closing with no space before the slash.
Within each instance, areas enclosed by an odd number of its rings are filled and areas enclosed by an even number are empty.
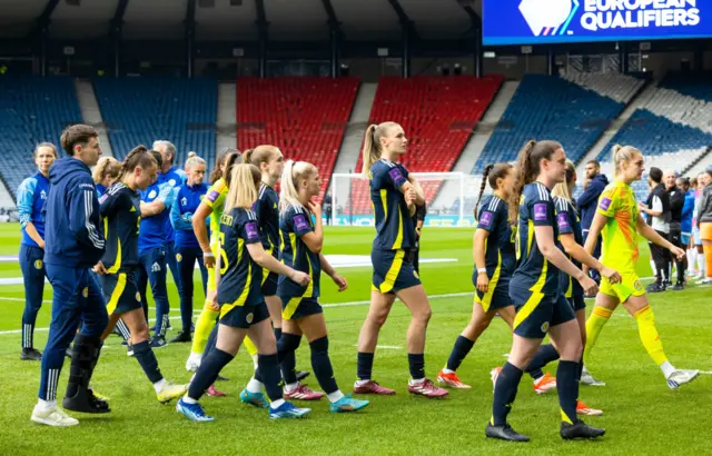
<svg viewBox="0 0 712 456">
<path fill-rule="evenodd" d="M 554 296 L 558 293 L 558 269 L 542 255 L 534 227 L 552 227 L 554 241 L 558 237 L 554 200 L 541 182 L 527 184 L 520 200 L 516 235 L 516 270 L 510 287 Z"/>
</svg>

